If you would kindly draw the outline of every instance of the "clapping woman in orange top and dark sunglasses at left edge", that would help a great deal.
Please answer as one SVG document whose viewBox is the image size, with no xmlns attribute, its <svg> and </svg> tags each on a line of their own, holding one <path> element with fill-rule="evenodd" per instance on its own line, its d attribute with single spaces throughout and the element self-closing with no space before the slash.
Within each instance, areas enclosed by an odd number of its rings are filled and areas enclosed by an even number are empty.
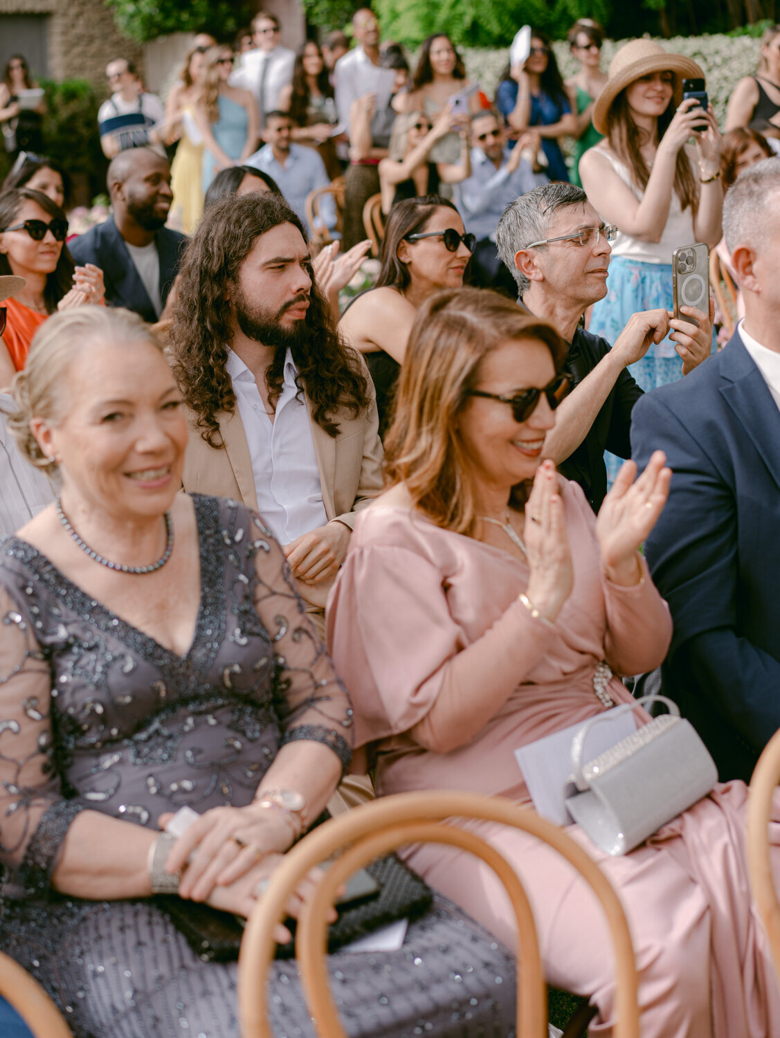
<svg viewBox="0 0 780 1038">
<path fill-rule="evenodd" d="M 19 188 L 0 195 L 0 274 L 26 285 L 6 302 L 0 336 L 0 389 L 27 360 L 32 336 L 56 310 L 103 301 L 103 272 L 76 267 L 65 245 L 64 212 L 41 191 Z"/>
</svg>

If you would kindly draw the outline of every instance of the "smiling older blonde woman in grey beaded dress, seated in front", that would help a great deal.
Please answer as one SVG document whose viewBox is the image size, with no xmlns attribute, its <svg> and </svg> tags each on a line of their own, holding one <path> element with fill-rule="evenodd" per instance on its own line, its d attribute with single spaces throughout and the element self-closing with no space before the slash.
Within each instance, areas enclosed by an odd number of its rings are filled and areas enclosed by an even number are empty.
<svg viewBox="0 0 780 1038">
<path fill-rule="evenodd" d="M 21 448 L 62 485 L 0 544 L 0 948 L 76 1038 L 238 1038 L 236 963 L 204 962 L 153 895 L 247 916 L 349 763 L 349 699 L 263 521 L 177 493 L 186 420 L 139 318 L 52 317 L 14 391 Z M 183 805 L 200 818 L 161 835 Z M 348 1033 L 461 1035 L 447 978 L 470 966 L 475 1018 L 506 1034 L 492 945 L 437 899 L 382 959 L 383 1002 L 366 956 L 330 956 Z M 274 1033 L 313 1038 L 295 963 L 270 980 Z M 422 1023 L 418 983 L 449 995 Z"/>
</svg>

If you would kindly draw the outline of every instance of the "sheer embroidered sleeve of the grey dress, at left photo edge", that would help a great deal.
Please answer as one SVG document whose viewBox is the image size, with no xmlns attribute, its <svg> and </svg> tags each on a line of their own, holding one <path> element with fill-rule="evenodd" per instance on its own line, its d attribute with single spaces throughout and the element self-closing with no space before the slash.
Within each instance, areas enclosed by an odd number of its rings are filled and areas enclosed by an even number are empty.
<svg viewBox="0 0 780 1038">
<path fill-rule="evenodd" d="M 0 862 L 6 890 L 34 897 L 48 890 L 62 840 L 83 804 L 61 795 L 50 668 L 17 579 L 0 570 Z"/>
</svg>

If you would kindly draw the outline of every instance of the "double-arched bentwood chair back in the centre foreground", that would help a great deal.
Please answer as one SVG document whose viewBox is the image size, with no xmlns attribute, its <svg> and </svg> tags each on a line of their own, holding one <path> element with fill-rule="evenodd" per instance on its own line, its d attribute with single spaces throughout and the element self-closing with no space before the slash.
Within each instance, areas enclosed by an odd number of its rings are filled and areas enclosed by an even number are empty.
<svg viewBox="0 0 780 1038">
<path fill-rule="evenodd" d="M 634 949 L 625 914 L 607 876 L 563 829 L 535 812 L 502 797 L 461 792 L 383 797 L 318 826 L 288 851 L 259 899 L 241 943 L 238 998 L 244 1038 L 272 1038 L 266 1014 L 267 977 L 275 949 L 273 928 L 284 917 L 284 906 L 315 865 L 348 847 L 304 904 L 296 928 L 296 957 L 317 1033 L 322 1038 L 345 1038 L 328 988 L 327 910 L 339 884 L 356 869 L 403 844 L 428 841 L 477 854 L 504 882 L 517 920 L 517 1038 L 546 1036 L 546 989 L 536 927 L 522 884 L 512 866 L 488 843 L 467 829 L 445 824 L 453 817 L 487 819 L 531 832 L 580 872 L 601 903 L 615 948 L 615 1038 L 639 1038 Z"/>
</svg>

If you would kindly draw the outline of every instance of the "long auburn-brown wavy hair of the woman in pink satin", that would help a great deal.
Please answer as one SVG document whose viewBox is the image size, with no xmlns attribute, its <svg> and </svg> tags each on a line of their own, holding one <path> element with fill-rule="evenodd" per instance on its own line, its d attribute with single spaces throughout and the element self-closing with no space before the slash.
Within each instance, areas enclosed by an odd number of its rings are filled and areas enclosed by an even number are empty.
<svg viewBox="0 0 780 1038">
<path fill-rule="evenodd" d="M 403 483 L 416 508 L 438 526 L 474 536 L 478 504 L 458 416 L 485 357 L 507 339 L 536 339 L 560 372 L 567 347 L 545 321 L 485 289 L 448 289 L 418 310 L 384 439 L 385 475 Z M 526 485 L 515 487 L 521 504 Z"/>
</svg>

